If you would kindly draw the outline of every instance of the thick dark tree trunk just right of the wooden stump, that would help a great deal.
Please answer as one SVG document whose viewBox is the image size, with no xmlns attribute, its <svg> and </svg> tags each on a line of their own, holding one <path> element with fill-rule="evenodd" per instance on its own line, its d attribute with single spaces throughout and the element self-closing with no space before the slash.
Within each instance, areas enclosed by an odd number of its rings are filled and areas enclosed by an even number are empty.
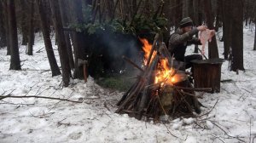
<svg viewBox="0 0 256 143">
<path fill-rule="evenodd" d="M 232 58 L 231 71 L 244 71 L 243 67 L 243 0 L 232 1 Z"/>
</svg>

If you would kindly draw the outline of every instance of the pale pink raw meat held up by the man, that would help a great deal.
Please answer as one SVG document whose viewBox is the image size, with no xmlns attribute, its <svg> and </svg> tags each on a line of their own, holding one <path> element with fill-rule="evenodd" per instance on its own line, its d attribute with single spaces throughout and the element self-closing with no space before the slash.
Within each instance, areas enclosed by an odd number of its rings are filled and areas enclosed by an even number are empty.
<svg viewBox="0 0 256 143">
<path fill-rule="evenodd" d="M 215 31 L 214 30 L 209 30 L 207 29 L 206 31 L 201 31 L 199 34 L 199 38 L 201 41 L 201 45 L 202 45 L 202 54 L 205 54 L 205 46 L 207 41 L 211 42 L 212 41 L 212 37 L 215 35 Z"/>
</svg>

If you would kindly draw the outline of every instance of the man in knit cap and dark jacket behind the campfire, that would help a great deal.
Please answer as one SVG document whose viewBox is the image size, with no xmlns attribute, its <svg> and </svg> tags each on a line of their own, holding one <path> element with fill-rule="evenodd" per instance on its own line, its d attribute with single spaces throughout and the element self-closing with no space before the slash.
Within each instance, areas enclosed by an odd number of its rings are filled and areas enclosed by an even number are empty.
<svg viewBox="0 0 256 143">
<path fill-rule="evenodd" d="M 179 28 L 175 31 L 168 44 L 168 50 L 175 60 L 185 62 L 185 68 L 192 66 L 191 60 L 202 60 L 201 54 L 192 54 L 185 56 L 189 44 L 201 44 L 199 38 L 193 37 L 198 31 L 206 31 L 207 26 L 198 26 L 193 28 L 193 21 L 187 17 L 180 21 Z"/>
</svg>

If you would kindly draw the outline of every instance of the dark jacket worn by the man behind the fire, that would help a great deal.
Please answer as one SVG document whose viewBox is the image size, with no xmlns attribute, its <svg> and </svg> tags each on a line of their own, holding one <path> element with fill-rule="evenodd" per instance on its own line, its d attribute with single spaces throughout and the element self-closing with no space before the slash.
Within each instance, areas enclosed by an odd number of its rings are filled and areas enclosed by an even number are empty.
<svg viewBox="0 0 256 143">
<path fill-rule="evenodd" d="M 176 60 L 184 61 L 185 52 L 189 44 L 201 44 L 199 38 L 193 37 L 197 32 L 197 28 L 185 33 L 178 28 L 177 31 L 172 33 L 168 43 L 168 50 Z"/>
</svg>

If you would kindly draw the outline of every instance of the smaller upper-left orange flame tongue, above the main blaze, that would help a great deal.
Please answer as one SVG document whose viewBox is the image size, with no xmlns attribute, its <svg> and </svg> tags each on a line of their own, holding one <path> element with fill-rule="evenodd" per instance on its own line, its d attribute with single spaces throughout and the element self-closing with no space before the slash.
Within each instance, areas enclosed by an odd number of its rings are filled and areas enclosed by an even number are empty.
<svg viewBox="0 0 256 143">
<path fill-rule="evenodd" d="M 148 62 L 150 51 L 152 49 L 152 44 L 148 43 L 148 40 L 145 38 L 140 38 L 140 41 L 143 43 L 143 51 L 145 53 L 144 54 L 144 66 L 146 66 L 147 62 Z M 155 54 L 156 54 L 156 51 L 153 52 L 150 63 L 154 59 Z"/>
</svg>

